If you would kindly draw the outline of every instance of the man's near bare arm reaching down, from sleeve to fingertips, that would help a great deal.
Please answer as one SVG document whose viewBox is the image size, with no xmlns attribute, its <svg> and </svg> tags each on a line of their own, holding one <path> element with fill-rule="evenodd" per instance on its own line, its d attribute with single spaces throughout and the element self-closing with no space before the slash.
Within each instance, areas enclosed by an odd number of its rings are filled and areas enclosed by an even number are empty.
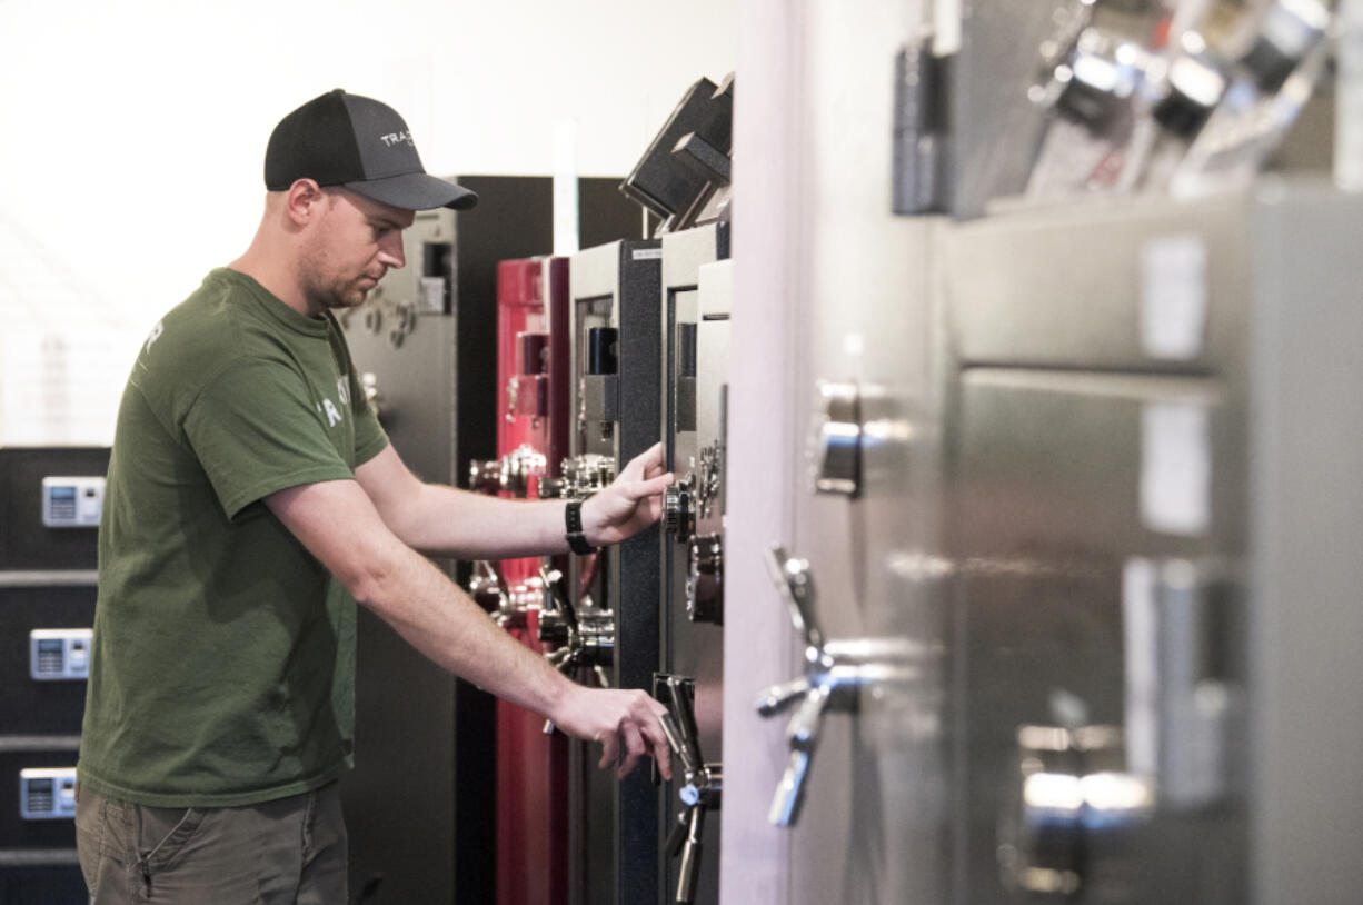
<svg viewBox="0 0 1363 905">
<path fill-rule="evenodd" d="M 562 676 L 388 530 L 360 484 L 304 484 L 264 503 L 360 604 L 428 658 L 568 735 L 600 741 L 601 766 L 623 756 L 620 776 L 652 752 L 671 777 L 662 705 L 643 691 L 583 688 Z"/>
</svg>

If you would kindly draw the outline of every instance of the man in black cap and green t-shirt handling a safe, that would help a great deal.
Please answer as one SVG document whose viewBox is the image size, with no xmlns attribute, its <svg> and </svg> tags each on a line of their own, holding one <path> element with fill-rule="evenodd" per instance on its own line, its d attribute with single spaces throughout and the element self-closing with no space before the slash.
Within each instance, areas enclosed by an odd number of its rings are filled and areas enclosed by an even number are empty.
<svg viewBox="0 0 1363 905">
<path fill-rule="evenodd" d="M 124 391 L 99 532 L 76 838 L 94 902 L 346 901 L 335 780 L 352 761 L 354 605 L 423 654 L 669 776 L 661 705 L 587 690 L 499 631 L 421 553 L 612 544 L 658 518 L 654 447 L 590 500 L 417 480 L 331 315 L 405 264 L 414 210 L 477 198 L 428 176 L 406 124 L 324 94 L 266 150 L 255 240 L 172 309 Z"/>
</svg>

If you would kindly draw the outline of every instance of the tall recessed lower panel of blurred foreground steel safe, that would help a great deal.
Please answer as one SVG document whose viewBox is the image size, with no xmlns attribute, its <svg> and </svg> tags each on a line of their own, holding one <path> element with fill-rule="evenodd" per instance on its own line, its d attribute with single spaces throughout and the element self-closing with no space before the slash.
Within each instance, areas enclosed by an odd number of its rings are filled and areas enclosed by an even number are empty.
<svg viewBox="0 0 1363 905">
<path fill-rule="evenodd" d="M 1239 412 L 1209 380 L 975 369 L 957 416 L 954 901 L 1243 901 Z M 1097 774 L 1153 800 L 1041 796 Z"/>
</svg>

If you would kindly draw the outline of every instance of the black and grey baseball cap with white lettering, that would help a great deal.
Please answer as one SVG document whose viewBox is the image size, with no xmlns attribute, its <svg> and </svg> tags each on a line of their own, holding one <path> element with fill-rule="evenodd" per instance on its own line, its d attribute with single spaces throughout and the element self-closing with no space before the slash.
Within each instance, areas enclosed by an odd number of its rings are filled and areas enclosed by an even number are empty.
<svg viewBox="0 0 1363 905">
<path fill-rule="evenodd" d="M 478 203 L 465 187 L 427 174 L 412 131 L 397 110 L 341 89 L 312 98 L 270 134 L 266 188 L 288 191 L 300 179 L 343 185 L 406 210 L 468 210 Z"/>
</svg>

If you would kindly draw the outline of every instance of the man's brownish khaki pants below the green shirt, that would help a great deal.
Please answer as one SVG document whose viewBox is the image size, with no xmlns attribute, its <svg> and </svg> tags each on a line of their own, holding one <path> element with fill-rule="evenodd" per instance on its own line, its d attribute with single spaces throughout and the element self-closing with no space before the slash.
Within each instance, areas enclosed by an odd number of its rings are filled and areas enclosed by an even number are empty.
<svg viewBox="0 0 1363 905">
<path fill-rule="evenodd" d="M 331 782 L 234 808 L 154 808 L 76 793 L 93 905 L 345 905 L 346 833 Z"/>
</svg>

